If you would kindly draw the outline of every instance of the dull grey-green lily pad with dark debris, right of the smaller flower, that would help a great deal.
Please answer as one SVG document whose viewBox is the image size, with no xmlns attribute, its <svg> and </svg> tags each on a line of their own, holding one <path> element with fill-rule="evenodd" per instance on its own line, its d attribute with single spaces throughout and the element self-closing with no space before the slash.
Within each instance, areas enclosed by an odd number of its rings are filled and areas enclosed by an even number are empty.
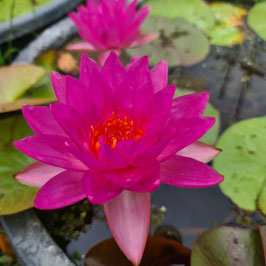
<svg viewBox="0 0 266 266">
<path fill-rule="evenodd" d="M 159 38 L 143 46 L 127 49 L 130 56 L 148 55 L 151 65 L 166 60 L 171 66 L 190 66 L 203 60 L 209 53 L 206 36 L 183 19 L 149 17 L 143 32 L 159 32 Z"/>
</svg>

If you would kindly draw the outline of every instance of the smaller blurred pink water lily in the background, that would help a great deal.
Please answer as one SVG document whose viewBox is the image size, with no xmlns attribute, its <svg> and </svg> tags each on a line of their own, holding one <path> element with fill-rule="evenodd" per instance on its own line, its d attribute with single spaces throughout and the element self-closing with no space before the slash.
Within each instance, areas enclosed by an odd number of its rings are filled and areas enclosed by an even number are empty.
<svg viewBox="0 0 266 266">
<path fill-rule="evenodd" d="M 120 55 L 121 50 L 145 44 L 158 34 L 142 35 L 140 25 L 149 14 L 149 7 L 136 10 L 137 0 L 127 5 L 126 0 L 88 0 L 69 17 L 85 42 L 70 44 L 72 51 L 99 51 L 98 60 L 103 65 L 110 51 Z"/>
</svg>

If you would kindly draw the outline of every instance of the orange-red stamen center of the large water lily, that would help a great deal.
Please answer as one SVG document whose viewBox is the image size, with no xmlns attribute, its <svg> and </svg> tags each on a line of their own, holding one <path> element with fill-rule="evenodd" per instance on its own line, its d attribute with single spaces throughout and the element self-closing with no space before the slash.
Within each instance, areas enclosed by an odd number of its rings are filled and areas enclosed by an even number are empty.
<svg viewBox="0 0 266 266">
<path fill-rule="evenodd" d="M 137 128 L 133 120 L 129 120 L 127 116 L 123 119 L 115 116 L 114 112 L 112 117 L 98 127 L 91 125 L 91 149 L 97 154 L 100 143 L 99 139 L 104 138 L 104 142 L 112 148 L 116 146 L 119 141 L 135 139 L 138 140 L 143 136 L 140 128 Z"/>
</svg>

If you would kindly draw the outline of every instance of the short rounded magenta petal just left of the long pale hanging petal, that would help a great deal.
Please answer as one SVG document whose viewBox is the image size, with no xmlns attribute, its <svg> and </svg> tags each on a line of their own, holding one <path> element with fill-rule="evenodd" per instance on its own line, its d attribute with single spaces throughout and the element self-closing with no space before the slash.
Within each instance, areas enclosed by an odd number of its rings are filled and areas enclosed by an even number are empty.
<svg viewBox="0 0 266 266">
<path fill-rule="evenodd" d="M 83 189 L 93 204 L 103 204 L 122 192 L 122 188 L 106 179 L 101 172 L 87 171 L 82 179 Z"/>
</svg>

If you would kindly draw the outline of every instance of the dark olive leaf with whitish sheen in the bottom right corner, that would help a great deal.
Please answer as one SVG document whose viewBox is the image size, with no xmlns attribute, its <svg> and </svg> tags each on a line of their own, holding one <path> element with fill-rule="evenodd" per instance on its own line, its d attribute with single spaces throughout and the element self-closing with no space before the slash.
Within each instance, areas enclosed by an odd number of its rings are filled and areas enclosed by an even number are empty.
<svg viewBox="0 0 266 266">
<path fill-rule="evenodd" d="M 260 230 L 218 227 L 203 233 L 192 248 L 191 266 L 265 265 Z"/>
</svg>

